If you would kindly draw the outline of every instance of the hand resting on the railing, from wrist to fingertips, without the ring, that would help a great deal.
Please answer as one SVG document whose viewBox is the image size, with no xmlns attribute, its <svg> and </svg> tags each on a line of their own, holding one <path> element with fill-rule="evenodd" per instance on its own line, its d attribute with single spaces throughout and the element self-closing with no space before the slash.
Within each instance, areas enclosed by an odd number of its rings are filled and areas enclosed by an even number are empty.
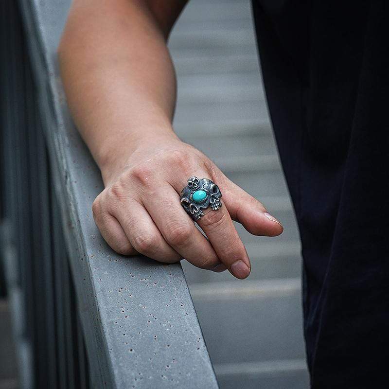
<svg viewBox="0 0 389 389">
<path fill-rule="evenodd" d="M 102 169 L 106 188 L 92 210 L 108 245 L 123 255 L 141 253 L 164 263 L 185 258 L 246 278 L 250 261 L 232 220 L 264 236 L 281 234 L 280 222 L 191 145 L 173 137 L 144 143 Z M 192 176 L 212 179 L 222 192 L 223 206 L 205 210 L 198 221 L 208 239 L 180 205 L 179 193 Z"/>
</svg>

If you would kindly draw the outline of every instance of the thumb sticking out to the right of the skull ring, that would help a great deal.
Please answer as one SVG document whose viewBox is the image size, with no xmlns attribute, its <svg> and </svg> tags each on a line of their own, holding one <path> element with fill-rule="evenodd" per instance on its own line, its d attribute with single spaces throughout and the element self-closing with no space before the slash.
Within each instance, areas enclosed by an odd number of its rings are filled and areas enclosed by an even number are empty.
<svg viewBox="0 0 389 389">
<path fill-rule="evenodd" d="M 241 223 L 248 232 L 254 235 L 278 236 L 283 232 L 282 224 L 266 211 L 261 202 L 233 183 L 223 173 L 218 176 L 215 177 L 215 182 L 221 188 L 223 202 L 232 220 Z"/>
</svg>

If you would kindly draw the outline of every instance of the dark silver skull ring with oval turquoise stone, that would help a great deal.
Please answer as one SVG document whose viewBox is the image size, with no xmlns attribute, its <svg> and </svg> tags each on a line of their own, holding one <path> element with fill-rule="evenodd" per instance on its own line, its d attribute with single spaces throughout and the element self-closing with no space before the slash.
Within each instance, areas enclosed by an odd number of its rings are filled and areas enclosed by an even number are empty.
<svg viewBox="0 0 389 389">
<path fill-rule="evenodd" d="M 202 210 L 210 207 L 218 210 L 222 203 L 219 187 L 208 178 L 190 177 L 187 186 L 181 191 L 181 205 L 184 210 L 197 221 L 204 216 Z"/>
</svg>

